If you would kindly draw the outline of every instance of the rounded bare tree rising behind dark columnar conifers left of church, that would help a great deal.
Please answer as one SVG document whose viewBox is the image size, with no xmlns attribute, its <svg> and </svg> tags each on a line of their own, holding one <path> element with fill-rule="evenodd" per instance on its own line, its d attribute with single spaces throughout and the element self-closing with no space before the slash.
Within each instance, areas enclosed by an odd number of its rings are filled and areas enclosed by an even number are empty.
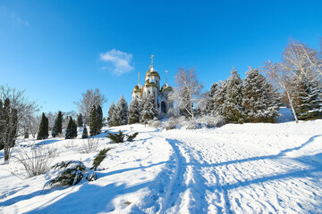
<svg viewBox="0 0 322 214">
<path fill-rule="evenodd" d="M 100 105 L 103 107 L 103 104 L 107 102 L 105 95 L 103 95 L 98 88 L 95 90 L 87 90 L 86 93 L 81 94 L 82 98 L 78 102 L 74 102 L 77 105 L 78 110 L 85 117 L 85 122 L 89 124 L 89 112 L 93 105 Z"/>
</svg>

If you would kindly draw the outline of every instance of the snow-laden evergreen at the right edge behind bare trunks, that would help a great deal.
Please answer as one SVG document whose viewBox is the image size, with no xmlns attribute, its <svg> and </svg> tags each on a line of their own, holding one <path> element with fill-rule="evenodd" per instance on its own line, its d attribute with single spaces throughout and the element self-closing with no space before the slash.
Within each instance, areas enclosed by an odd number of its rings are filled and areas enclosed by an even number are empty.
<svg viewBox="0 0 322 214">
<path fill-rule="evenodd" d="M 299 119 L 322 118 L 322 93 L 318 80 L 299 73 L 293 81 L 293 100 Z"/>
</svg>

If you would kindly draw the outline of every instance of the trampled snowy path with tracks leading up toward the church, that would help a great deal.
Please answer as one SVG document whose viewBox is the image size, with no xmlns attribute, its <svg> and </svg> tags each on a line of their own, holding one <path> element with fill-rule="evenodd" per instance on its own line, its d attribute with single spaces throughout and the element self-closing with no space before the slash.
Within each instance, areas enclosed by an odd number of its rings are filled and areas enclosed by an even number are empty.
<svg viewBox="0 0 322 214">
<path fill-rule="evenodd" d="M 175 170 L 159 213 L 322 211 L 321 180 L 314 175 L 320 167 L 284 156 L 298 147 L 261 155 L 215 136 L 165 138 L 174 150 Z M 314 136 L 301 146 L 315 138 L 321 142 Z"/>
</svg>

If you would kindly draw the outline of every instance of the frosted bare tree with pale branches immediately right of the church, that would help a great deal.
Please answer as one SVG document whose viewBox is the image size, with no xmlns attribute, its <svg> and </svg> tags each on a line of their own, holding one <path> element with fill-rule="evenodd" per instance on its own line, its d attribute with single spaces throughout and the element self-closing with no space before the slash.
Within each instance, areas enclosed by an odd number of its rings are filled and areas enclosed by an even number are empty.
<svg viewBox="0 0 322 214">
<path fill-rule="evenodd" d="M 179 112 L 182 115 L 194 119 L 194 107 L 199 103 L 203 87 L 199 83 L 197 73 L 194 69 L 179 68 L 174 78 L 176 87 L 170 97 L 178 103 Z"/>
</svg>

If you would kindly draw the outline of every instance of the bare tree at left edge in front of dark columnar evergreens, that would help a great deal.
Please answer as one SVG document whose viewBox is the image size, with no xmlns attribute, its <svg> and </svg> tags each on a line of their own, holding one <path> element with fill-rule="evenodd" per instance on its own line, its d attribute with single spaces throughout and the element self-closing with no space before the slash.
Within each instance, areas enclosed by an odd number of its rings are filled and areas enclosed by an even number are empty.
<svg viewBox="0 0 322 214">
<path fill-rule="evenodd" d="M 25 91 L 18 91 L 9 86 L 0 86 L 0 104 L 4 103 L 4 111 L 0 118 L 0 144 L 4 146 L 4 162 L 9 163 L 11 148 L 14 145 L 17 133 L 30 114 L 38 111 L 35 102 L 29 102 Z"/>
</svg>

